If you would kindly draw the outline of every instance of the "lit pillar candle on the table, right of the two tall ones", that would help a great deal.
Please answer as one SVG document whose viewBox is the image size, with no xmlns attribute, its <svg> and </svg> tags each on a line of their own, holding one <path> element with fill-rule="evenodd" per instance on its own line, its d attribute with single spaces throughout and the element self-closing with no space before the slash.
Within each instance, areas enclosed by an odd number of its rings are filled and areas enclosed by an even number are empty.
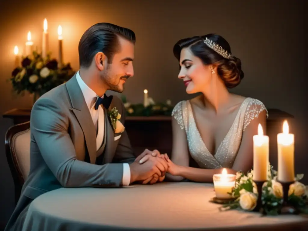
<svg viewBox="0 0 308 231">
<path fill-rule="evenodd" d="M 278 181 L 294 181 L 294 134 L 289 133 L 289 125 L 283 122 L 282 133 L 277 135 Z"/>
</svg>

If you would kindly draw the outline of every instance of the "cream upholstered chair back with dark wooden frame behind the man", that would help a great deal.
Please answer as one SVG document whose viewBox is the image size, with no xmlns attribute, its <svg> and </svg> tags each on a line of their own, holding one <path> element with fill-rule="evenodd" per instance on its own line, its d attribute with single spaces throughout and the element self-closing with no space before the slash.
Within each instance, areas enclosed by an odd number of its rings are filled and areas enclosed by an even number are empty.
<svg viewBox="0 0 308 231">
<path fill-rule="evenodd" d="M 15 202 L 30 172 L 30 121 L 10 127 L 5 135 L 6 159 L 15 185 Z"/>
</svg>

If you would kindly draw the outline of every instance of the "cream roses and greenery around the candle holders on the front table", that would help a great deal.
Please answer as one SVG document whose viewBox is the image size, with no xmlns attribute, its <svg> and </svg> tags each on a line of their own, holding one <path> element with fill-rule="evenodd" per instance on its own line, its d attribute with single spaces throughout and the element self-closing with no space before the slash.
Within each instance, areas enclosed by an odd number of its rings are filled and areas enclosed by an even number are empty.
<svg viewBox="0 0 308 231">
<path fill-rule="evenodd" d="M 299 182 L 303 174 L 298 174 L 296 180 L 290 185 L 288 202 L 300 213 L 308 213 L 308 199 L 306 186 Z M 282 185 L 276 181 L 277 171 L 269 166 L 268 181 L 263 184 L 261 196 L 261 213 L 267 215 L 278 215 L 282 208 L 283 190 Z M 221 209 L 243 209 L 252 211 L 257 205 L 257 186 L 253 182 L 253 170 L 247 175 L 237 172 L 235 187 L 229 193 L 235 200 L 223 205 Z"/>
</svg>

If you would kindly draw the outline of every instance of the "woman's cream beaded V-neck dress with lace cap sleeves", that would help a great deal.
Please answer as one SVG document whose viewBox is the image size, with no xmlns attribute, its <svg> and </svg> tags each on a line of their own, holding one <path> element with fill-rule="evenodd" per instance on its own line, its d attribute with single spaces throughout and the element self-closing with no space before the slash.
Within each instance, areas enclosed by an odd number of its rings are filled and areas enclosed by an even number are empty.
<svg viewBox="0 0 308 231">
<path fill-rule="evenodd" d="M 242 133 L 263 110 L 266 110 L 266 108 L 261 101 L 245 98 L 233 125 L 214 155 L 209 152 L 202 140 L 193 117 L 191 103 L 188 100 L 177 103 L 172 111 L 172 116 L 180 124 L 181 129 L 185 130 L 190 155 L 200 168 L 232 168 L 241 145 Z"/>
</svg>

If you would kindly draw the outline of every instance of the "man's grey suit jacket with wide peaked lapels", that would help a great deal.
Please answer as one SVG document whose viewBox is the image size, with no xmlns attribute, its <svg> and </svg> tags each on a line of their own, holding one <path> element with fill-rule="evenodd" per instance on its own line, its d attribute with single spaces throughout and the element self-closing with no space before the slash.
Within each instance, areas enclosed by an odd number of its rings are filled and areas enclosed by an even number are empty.
<svg viewBox="0 0 308 231">
<path fill-rule="evenodd" d="M 125 108 L 113 96 L 124 124 Z M 108 118 L 104 109 L 105 118 Z M 31 111 L 30 173 L 6 230 L 21 229 L 30 202 L 61 187 L 121 187 L 123 163 L 135 160 L 126 131 L 120 139 L 109 118 L 102 165 L 96 162 L 95 127 L 74 75 L 67 83 L 41 96 Z"/>
</svg>

